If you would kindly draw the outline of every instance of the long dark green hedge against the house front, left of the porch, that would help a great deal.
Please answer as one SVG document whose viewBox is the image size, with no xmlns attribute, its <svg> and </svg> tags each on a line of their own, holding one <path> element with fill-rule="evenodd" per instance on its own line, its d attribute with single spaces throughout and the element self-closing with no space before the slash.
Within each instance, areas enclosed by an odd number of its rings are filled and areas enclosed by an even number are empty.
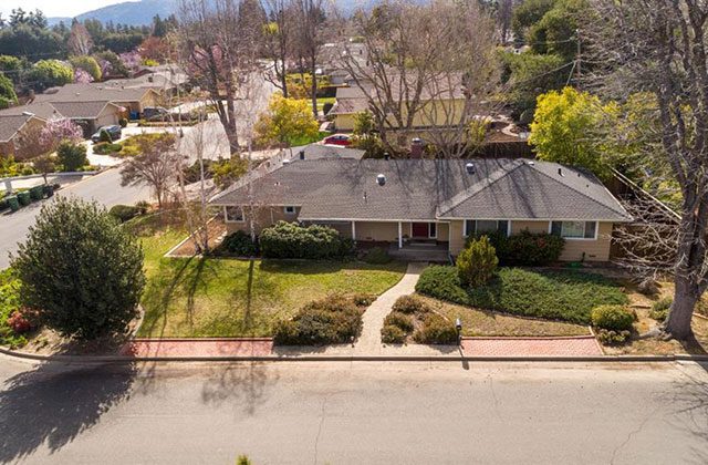
<svg viewBox="0 0 708 465">
<path fill-rule="evenodd" d="M 327 226 L 278 221 L 275 226 L 263 229 L 260 247 L 267 258 L 327 259 L 351 254 L 353 242 Z"/>
</svg>

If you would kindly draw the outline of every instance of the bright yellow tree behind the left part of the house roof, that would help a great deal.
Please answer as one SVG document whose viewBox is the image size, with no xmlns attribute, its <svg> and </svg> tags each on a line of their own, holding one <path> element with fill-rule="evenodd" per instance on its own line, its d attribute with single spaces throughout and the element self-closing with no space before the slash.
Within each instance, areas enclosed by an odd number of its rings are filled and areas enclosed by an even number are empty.
<svg viewBox="0 0 708 465">
<path fill-rule="evenodd" d="M 273 94 L 268 112 L 256 123 L 257 137 L 261 142 L 283 144 L 287 147 L 292 145 L 295 137 L 314 138 L 317 130 L 317 122 L 305 102 L 285 99 L 280 94 Z"/>
</svg>

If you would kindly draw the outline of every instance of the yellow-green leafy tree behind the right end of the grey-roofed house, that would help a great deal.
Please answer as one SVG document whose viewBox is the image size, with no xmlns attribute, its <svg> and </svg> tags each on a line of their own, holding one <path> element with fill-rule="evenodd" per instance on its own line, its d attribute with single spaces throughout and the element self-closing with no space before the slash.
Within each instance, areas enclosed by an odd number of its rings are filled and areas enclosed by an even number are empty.
<svg viewBox="0 0 708 465">
<path fill-rule="evenodd" d="M 602 178 L 612 176 L 605 124 L 614 124 L 616 108 L 596 96 L 565 87 L 539 96 L 529 142 L 540 159 L 581 166 Z"/>
</svg>

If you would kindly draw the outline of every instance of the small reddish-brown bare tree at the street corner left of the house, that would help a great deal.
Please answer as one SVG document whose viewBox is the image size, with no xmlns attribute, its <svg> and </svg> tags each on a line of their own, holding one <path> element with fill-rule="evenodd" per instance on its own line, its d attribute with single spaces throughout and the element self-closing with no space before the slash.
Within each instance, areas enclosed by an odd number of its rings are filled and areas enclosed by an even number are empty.
<svg viewBox="0 0 708 465">
<path fill-rule="evenodd" d="M 140 137 L 136 143 L 138 155 L 123 164 L 121 184 L 150 186 L 162 209 L 169 188 L 177 180 L 180 155 L 175 149 L 175 136 L 166 133 L 158 137 Z"/>
</svg>

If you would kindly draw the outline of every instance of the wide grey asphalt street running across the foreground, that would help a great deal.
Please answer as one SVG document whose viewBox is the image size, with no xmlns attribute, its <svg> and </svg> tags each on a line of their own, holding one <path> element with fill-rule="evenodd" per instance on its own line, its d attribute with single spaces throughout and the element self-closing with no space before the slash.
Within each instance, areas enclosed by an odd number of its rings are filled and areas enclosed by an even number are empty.
<svg viewBox="0 0 708 465">
<path fill-rule="evenodd" d="M 0 359 L 0 462 L 705 464 L 706 370 Z"/>
</svg>

